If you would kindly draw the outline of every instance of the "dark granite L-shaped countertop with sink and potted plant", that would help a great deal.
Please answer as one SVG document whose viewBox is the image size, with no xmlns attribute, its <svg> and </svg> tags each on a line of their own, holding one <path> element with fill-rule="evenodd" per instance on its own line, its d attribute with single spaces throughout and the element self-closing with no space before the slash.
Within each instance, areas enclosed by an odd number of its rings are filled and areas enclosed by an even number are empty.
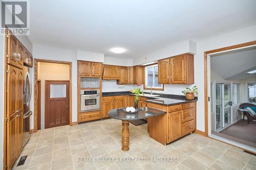
<svg viewBox="0 0 256 170">
<path fill-rule="evenodd" d="M 149 94 L 149 93 L 146 93 Z M 143 98 L 147 98 L 146 102 L 156 103 L 165 106 L 178 105 L 183 103 L 195 102 L 197 101 L 197 97 L 194 100 L 187 100 L 185 95 L 175 95 L 175 94 L 162 94 L 162 93 L 154 93 L 159 96 L 148 97 L 143 96 Z M 117 92 L 102 92 L 102 96 L 114 96 L 114 95 L 134 95 L 131 91 L 117 91 Z"/>
</svg>

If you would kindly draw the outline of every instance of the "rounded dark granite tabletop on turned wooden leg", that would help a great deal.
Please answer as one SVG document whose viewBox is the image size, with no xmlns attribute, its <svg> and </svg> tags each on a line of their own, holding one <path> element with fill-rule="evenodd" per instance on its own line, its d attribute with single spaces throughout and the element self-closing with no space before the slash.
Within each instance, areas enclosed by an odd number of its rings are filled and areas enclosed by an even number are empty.
<svg viewBox="0 0 256 170">
<path fill-rule="evenodd" d="M 153 108 L 138 108 L 137 112 L 127 113 L 123 108 L 113 109 L 109 111 L 109 116 L 120 120 L 139 120 L 147 117 L 158 116 L 167 113 L 164 110 L 158 110 Z"/>
</svg>

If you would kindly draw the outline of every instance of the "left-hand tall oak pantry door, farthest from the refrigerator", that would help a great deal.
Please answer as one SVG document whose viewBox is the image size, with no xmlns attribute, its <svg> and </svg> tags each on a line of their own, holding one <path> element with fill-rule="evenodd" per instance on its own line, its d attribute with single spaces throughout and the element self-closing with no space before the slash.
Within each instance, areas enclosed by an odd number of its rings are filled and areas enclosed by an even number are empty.
<svg viewBox="0 0 256 170">
<path fill-rule="evenodd" d="M 8 64 L 7 74 L 7 165 L 15 161 L 17 153 L 17 68 Z"/>
</svg>

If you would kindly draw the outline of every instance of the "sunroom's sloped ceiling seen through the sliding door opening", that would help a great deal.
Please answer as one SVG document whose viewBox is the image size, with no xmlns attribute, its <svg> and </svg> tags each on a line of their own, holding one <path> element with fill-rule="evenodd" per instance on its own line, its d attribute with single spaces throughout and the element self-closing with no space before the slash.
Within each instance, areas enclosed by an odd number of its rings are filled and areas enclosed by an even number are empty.
<svg viewBox="0 0 256 170">
<path fill-rule="evenodd" d="M 256 69 L 256 47 L 211 56 L 210 66 L 223 79 L 241 80 L 256 77 L 256 73 L 247 73 Z"/>
</svg>

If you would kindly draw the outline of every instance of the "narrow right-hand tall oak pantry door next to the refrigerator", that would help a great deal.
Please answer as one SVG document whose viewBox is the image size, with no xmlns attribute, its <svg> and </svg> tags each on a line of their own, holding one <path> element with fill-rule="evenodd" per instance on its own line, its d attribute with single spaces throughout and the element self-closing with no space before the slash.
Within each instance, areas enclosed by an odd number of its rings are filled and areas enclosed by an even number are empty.
<svg viewBox="0 0 256 170">
<path fill-rule="evenodd" d="M 23 89 L 24 74 L 22 69 L 17 69 L 17 153 L 23 147 Z"/>
</svg>

